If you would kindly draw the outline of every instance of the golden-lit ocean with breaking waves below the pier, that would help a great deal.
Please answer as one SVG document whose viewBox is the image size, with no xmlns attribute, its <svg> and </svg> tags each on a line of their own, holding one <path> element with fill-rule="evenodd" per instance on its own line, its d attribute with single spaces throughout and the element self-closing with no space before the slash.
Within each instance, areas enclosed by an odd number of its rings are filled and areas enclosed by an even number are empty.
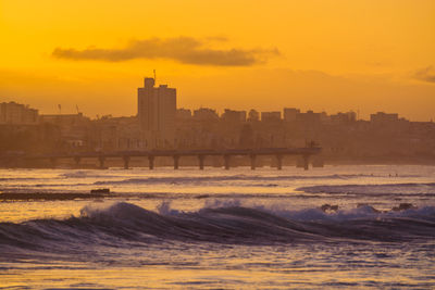
<svg viewBox="0 0 435 290">
<path fill-rule="evenodd" d="M 0 288 L 435 289 L 434 166 L 0 169 Z"/>
</svg>

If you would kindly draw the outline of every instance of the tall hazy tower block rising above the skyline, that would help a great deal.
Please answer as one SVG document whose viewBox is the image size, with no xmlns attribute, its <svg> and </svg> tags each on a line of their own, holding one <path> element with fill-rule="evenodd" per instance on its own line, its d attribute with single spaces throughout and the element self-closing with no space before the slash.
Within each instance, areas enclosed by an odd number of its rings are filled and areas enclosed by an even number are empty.
<svg viewBox="0 0 435 290">
<path fill-rule="evenodd" d="M 174 144 L 176 89 L 167 85 L 156 87 L 153 78 L 145 78 L 137 89 L 137 115 L 142 134 L 142 146 L 148 149 Z"/>
</svg>

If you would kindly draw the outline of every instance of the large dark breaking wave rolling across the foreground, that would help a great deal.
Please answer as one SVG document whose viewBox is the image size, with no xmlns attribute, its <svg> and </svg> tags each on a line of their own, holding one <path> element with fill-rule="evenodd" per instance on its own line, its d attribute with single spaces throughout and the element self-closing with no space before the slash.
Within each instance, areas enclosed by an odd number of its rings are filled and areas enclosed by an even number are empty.
<svg viewBox="0 0 435 290">
<path fill-rule="evenodd" d="M 222 203 L 221 203 L 222 205 Z M 0 253 L 11 249 L 69 251 L 79 245 L 132 247 L 161 242 L 276 244 L 332 241 L 433 240 L 435 207 L 376 213 L 370 206 L 327 214 L 319 209 L 276 211 L 237 203 L 197 212 L 159 212 L 132 203 L 85 206 L 78 217 L 0 223 Z"/>
</svg>

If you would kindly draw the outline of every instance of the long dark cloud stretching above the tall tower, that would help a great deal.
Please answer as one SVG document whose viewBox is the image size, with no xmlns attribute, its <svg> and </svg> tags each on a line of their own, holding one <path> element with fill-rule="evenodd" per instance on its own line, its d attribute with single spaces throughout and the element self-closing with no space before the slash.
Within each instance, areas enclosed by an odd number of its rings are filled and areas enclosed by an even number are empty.
<svg viewBox="0 0 435 290">
<path fill-rule="evenodd" d="M 251 66 L 264 63 L 270 56 L 278 55 L 277 49 L 212 49 L 212 39 L 195 39 L 191 37 L 150 38 L 130 41 L 122 49 L 88 48 L 85 50 L 55 48 L 52 56 L 67 60 L 92 60 L 105 62 L 123 62 L 136 59 L 167 59 L 184 64 L 215 66 Z M 214 39 L 216 40 L 216 39 Z M 226 41 L 224 38 L 217 38 Z"/>
</svg>

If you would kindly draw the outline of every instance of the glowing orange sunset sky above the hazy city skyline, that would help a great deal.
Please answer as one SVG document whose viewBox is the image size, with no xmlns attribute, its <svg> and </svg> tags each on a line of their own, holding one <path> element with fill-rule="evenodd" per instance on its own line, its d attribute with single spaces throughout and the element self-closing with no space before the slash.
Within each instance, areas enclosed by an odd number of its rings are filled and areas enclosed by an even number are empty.
<svg viewBox="0 0 435 290">
<path fill-rule="evenodd" d="M 435 119 L 433 0 L 0 0 L 0 102 L 136 114 L 157 70 L 178 108 Z"/>
</svg>

